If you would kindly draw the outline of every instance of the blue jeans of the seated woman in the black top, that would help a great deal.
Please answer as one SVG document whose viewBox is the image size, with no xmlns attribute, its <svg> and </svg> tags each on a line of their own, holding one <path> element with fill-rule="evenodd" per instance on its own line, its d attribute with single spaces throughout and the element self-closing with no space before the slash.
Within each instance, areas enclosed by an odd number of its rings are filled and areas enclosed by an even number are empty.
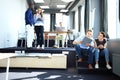
<svg viewBox="0 0 120 80">
<path fill-rule="evenodd" d="M 105 60 L 106 62 L 109 61 L 109 51 L 107 48 L 103 49 L 103 50 L 99 50 L 99 49 L 95 49 L 95 61 L 99 61 L 99 56 L 100 55 L 105 55 Z"/>
</svg>

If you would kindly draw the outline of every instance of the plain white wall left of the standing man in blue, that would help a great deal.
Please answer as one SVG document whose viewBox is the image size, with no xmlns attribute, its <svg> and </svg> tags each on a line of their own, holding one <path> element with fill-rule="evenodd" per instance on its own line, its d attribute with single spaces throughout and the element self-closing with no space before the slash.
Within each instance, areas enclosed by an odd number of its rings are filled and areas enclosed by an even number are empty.
<svg viewBox="0 0 120 80">
<path fill-rule="evenodd" d="M 0 0 L 0 48 L 17 45 L 18 32 L 25 28 L 26 0 Z"/>
</svg>

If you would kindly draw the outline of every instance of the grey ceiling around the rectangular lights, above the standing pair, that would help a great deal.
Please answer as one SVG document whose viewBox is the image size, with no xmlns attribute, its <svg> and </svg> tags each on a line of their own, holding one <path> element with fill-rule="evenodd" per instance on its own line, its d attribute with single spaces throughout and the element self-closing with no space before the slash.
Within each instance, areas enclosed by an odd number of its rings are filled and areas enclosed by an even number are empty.
<svg viewBox="0 0 120 80">
<path fill-rule="evenodd" d="M 27 0 L 28 2 L 33 1 L 34 0 Z M 81 4 L 84 4 L 85 0 L 74 0 L 72 2 L 63 2 L 62 0 L 44 0 L 44 3 L 35 3 L 35 8 L 39 7 L 39 6 L 49 6 L 49 9 L 44 9 L 45 12 L 48 13 L 56 13 L 56 12 L 60 12 L 61 9 L 67 9 L 67 10 L 76 10 L 77 7 Z M 75 3 L 75 4 L 74 4 Z M 57 5 L 65 5 L 64 8 L 57 8 Z M 72 6 L 74 5 L 74 6 Z"/>
</svg>

